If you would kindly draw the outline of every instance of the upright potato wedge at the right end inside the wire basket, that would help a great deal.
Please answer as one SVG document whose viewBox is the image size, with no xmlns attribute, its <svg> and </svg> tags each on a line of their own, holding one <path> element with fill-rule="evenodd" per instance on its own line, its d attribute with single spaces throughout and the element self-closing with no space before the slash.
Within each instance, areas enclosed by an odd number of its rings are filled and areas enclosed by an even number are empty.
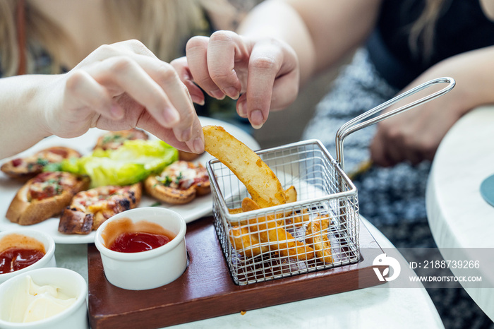
<svg viewBox="0 0 494 329">
<path fill-rule="evenodd" d="M 327 238 L 327 228 L 330 225 L 329 217 L 316 217 L 306 229 L 306 244 L 315 250 L 315 256 L 323 263 L 332 263 L 331 243 Z"/>
</svg>

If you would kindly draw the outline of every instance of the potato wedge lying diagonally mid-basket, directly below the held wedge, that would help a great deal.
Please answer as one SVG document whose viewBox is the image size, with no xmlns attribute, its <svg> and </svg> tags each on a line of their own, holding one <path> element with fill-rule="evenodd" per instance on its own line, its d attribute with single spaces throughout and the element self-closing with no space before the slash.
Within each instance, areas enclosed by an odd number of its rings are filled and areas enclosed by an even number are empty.
<svg viewBox="0 0 494 329">
<path fill-rule="evenodd" d="M 243 199 L 242 210 L 244 213 L 258 209 L 260 206 L 251 198 Z M 289 232 L 277 225 L 274 216 L 253 218 L 248 221 L 248 224 L 248 229 L 251 232 L 258 232 L 261 242 L 270 244 L 271 251 L 277 249 L 282 256 L 295 257 L 299 261 L 314 257 L 314 250 L 303 242 L 297 241 Z"/>
</svg>

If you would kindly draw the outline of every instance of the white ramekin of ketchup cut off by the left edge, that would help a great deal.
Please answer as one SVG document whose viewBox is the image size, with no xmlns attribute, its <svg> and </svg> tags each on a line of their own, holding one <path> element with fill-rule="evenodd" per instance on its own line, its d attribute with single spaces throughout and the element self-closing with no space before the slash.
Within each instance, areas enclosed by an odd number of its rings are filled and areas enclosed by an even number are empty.
<svg viewBox="0 0 494 329">
<path fill-rule="evenodd" d="M 39 261 L 29 265 L 26 268 L 21 268 L 20 270 L 16 270 L 10 273 L 0 274 L 0 283 L 5 282 L 11 277 L 15 277 L 16 275 L 23 274 L 30 270 L 35 270 L 37 268 L 56 268 L 55 241 L 47 233 L 35 231 L 33 229 L 12 229 L 9 231 L 0 232 L 0 251 L 4 250 L 1 246 L 2 239 L 6 238 L 10 234 L 24 235 L 26 237 L 31 237 L 36 239 L 37 241 L 40 241 L 44 245 L 45 254 Z"/>
</svg>

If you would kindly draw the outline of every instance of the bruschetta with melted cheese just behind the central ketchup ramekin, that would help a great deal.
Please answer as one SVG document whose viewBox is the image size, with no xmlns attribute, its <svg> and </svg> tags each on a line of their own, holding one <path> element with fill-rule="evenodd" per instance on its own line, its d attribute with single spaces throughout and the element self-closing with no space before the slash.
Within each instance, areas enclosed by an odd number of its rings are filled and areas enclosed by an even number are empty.
<svg viewBox="0 0 494 329">
<path fill-rule="evenodd" d="M 128 186 L 99 186 L 73 197 L 61 214 L 59 232 L 89 234 L 109 217 L 133 209 L 140 203 L 140 183 Z"/>
</svg>

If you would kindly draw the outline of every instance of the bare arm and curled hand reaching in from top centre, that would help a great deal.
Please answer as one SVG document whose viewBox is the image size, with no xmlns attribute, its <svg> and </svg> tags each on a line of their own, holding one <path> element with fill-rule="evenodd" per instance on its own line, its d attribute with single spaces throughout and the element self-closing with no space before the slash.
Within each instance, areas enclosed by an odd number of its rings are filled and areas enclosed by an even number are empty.
<svg viewBox="0 0 494 329">
<path fill-rule="evenodd" d="M 238 97 L 239 115 L 260 128 L 270 110 L 296 99 L 301 81 L 365 39 L 379 5 L 379 0 L 267 0 L 243 20 L 239 34 L 193 37 L 186 58 L 172 64 L 194 102 L 204 100 L 200 88 L 219 99 Z"/>
</svg>

